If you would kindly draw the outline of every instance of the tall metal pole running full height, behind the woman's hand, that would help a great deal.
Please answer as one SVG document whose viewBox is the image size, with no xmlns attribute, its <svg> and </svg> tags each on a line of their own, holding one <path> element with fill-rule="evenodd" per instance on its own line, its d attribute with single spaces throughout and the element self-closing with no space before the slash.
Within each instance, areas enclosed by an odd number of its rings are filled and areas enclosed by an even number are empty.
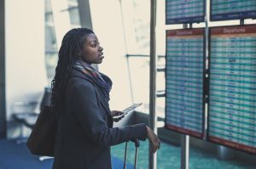
<svg viewBox="0 0 256 169">
<path fill-rule="evenodd" d="M 150 84 L 149 84 L 149 127 L 157 133 L 155 99 L 156 99 L 156 55 L 155 55 L 155 25 L 156 25 L 156 0 L 151 0 L 150 6 Z M 152 145 L 149 144 L 149 169 L 156 169 L 156 153 L 151 153 Z"/>
</svg>

